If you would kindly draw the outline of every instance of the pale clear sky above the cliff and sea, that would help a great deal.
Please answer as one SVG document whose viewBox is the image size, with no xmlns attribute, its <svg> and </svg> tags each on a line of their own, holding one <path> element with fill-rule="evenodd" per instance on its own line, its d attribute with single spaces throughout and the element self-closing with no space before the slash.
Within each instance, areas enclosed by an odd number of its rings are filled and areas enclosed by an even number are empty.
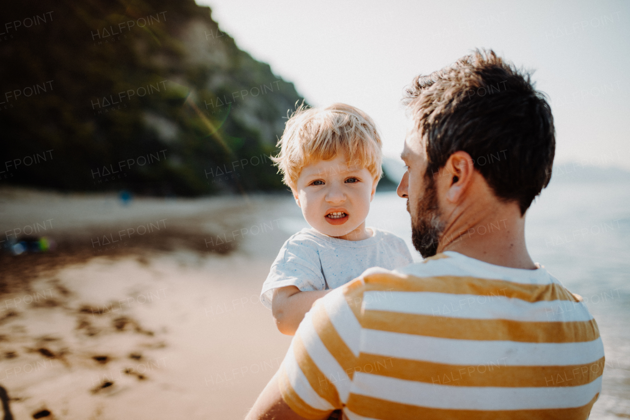
<svg viewBox="0 0 630 420">
<path fill-rule="evenodd" d="M 346 102 L 398 156 L 400 105 L 416 74 L 494 49 L 551 98 L 556 163 L 630 170 L 630 2 L 197 0 L 239 48 L 295 83 L 312 105 Z"/>
</svg>

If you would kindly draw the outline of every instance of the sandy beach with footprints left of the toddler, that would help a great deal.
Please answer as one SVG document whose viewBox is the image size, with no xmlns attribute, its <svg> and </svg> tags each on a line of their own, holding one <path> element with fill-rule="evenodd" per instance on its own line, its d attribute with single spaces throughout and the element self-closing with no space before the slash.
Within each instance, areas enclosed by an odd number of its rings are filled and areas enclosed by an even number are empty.
<svg viewBox="0 0 630 420">
<path fill-rule="evenodd" d="M 244 417 L 290 343 L 258 300 L 301 218 L 290 197 L 2 197 L 2 231 L 49 220 L 40 235 L 57 241 L 3 254 L 0 385 L 15 419 Z M 160 220 L 126 245 L 118 234 Z"/>
</svg>

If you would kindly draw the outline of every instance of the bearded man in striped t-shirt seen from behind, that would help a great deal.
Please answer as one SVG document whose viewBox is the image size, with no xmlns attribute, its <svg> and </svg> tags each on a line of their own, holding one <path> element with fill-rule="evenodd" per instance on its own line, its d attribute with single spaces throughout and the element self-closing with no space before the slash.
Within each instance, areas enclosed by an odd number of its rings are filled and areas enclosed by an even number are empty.
<svg viewBox="0 0 630 420">
<path fill-rule="evenodd" d="M 249 419 L 587 419 L 597 323 L 525 246 L 554 127 L 512 64 L 476 51 L 416 78 L 398 195 L 425 257 L 316 301 Z"/>
</svg>

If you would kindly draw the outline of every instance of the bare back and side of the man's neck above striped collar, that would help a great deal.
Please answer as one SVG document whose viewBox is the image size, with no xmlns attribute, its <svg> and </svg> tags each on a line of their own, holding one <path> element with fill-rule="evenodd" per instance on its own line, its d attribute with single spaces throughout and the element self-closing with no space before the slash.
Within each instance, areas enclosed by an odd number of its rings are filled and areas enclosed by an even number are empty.
<svg viewBox="0 0 630 420">
<path fill-rule="evenodd" d="M 477 209 L 465 213 L 473 218 L 451 218 L 438 252 L 455 251 L 489 264 L 517 269 L 536 269 L 525 245 L 525 217 L 516 204 L 492 206 L 476 203 Z"/>
</svg>

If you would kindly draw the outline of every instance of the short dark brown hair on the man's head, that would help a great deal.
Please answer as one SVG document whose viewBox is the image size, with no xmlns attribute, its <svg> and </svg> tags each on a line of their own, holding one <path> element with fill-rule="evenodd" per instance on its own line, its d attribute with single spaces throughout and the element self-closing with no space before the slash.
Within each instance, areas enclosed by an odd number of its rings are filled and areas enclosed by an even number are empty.
<svg viewBox="0 0 630 420">
<path fill-rule="evenodd" d="M 544 93 L 493 50 L 475 50 L 455 64 L 417 76 L 403 102 L 427 142 L 433 176 L 462 150 L 503 201 L 525 214 L 549 184 L 556 149 L 553 115 Z"/>
</svg>

